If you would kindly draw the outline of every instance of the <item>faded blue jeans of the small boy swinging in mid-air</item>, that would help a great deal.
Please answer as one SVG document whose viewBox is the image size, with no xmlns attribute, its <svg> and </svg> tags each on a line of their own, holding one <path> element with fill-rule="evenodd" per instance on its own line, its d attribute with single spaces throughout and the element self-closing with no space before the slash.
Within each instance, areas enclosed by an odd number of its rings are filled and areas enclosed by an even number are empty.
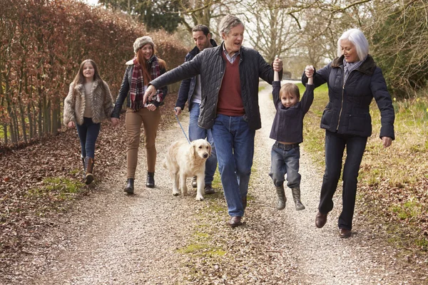
<svg viewBox="0 0 428 285">
<path fill-rule="evenodd" d="M 275 187 L 284 184 L 284 176 L 287 174 L 287 186 L 289 188 L 300 187 L 301 175 L 299 174 L 299 145 L 284 145 L 275 142 L 270 152 L 270 177 Z"/>
</svg>

